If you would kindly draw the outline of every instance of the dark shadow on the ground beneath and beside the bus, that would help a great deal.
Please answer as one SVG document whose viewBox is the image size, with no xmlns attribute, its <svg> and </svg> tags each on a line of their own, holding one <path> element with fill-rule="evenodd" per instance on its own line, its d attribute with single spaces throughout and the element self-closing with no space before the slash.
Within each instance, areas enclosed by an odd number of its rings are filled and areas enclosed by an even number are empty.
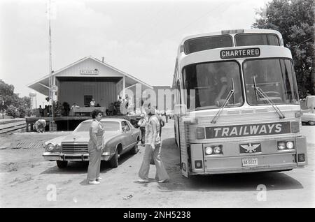
<svg viewBox="0 0 315 222">
<path fill-rule="evenodd" d="M 286 172 L 251 172 L 226 175 L 196 175 L 189 178 L 181 175 L 179 149 L 174 138 L 162 142 L 162 161 L 170 180 L 159 184 L 162 190 L 171 191 L 255 191 L 263 184 L 267 190 L 303 188 L 302 184 Z M 300 170 L 300 169 L 293 169 Z"/>
</svg>

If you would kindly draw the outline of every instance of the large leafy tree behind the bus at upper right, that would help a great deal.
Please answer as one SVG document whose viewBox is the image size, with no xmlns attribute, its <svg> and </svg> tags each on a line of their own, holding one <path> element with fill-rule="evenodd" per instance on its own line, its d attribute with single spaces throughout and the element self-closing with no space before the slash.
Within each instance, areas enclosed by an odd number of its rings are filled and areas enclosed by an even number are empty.
<svg viewBox="0 0 315 222">
<path fill-rule="evenodd" d="M 274 29 L 293 56 L 301 98 L 315 94 L 314 0 L 273 0 L 260 8 L 253 28 Z"/>
</svg>

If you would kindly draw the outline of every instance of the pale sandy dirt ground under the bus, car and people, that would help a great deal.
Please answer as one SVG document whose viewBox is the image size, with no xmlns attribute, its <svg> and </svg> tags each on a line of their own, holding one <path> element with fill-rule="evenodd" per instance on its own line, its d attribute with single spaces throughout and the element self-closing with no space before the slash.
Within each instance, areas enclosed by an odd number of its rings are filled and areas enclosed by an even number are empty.
<svg viewBox="0 0 315 222">
<path fill-rule="evenodd" d="M 309 165 L 302 169 L 187 179 L 181 176 L 171 120 L 162 132 L 169 183 L 155 181 L 154 166 L 150 182 L 137 183 L 144 154 L 140 147 L 134 156 L 121 156 L 118 168 L 102 164 L 102 184 L 87 185 L 86 163 L 70 163 L 60 170 L 41 156 L 43 141 L 64 134 L 17 133 L 1 138 L 0 207 L 315 207 L 314 145 L 308 145 Z M 262 186 L 267 188 L 265 199 L 260 198 Z"/>
</svg>

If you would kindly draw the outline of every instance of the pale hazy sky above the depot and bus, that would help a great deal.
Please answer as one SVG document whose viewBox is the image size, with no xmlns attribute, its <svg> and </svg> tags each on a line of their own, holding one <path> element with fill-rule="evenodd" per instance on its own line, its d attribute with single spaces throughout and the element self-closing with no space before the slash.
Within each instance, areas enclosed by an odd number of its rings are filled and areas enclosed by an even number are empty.
<svg viewBox="0 0 315 222">
<path fill-rule="evenodd" d="M 52 70 L 92 56 L 151 85 L 171 85 L 189 35 L 250 29 L 269 0 L 50 0 Z M 49 73 L 49 0 L 0 0 L 0 79 L 28 96 Z M 45 96 L 37 93 L 37 104 Z"/>
</svg>

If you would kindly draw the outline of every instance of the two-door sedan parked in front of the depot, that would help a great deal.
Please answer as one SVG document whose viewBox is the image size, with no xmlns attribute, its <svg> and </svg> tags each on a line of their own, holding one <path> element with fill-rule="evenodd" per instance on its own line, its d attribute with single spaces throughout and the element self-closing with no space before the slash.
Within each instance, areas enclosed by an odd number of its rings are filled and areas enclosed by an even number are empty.
<svg viewBox="0 0 315 222">
<path fill-rule="evenodd" d="M 73 133 L 45 142 L 43 157 L 46 161 L 57 161 L 59 168 L 66 168 L 68 161 L 89 161 L 87 143 L 92 119 L 81 122 Z M 126 119 L 102 119 L 104 125 L 104 149 L 102 161 L 109 161 L 111 168 L 117 168 L 121 154 L 130 151 L 137 154 L 141 131 Z"/>
</svg>

